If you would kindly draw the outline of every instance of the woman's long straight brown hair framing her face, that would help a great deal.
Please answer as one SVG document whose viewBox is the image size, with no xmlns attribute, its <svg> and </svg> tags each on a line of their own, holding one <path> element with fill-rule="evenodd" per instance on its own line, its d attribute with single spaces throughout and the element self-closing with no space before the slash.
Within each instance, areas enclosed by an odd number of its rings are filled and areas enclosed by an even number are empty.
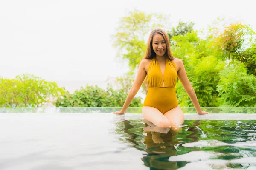
<svg viewBox="0 0 256 170">
<path fill-rule="evenodd" d="M 172 55 L 171 48 L 170 48 L 171 45 L 170 45 L 170 41 L 169 41 L 168 35 L 162 29 L 154 29 L 150 33 L 149 38 L 148 38 L 147 51 L 146 51 L 145 57 L 143 59 L 153 59 L 153 58 L 155 58 L 157 56 L 157 54 L 153 50 L 153 45 L 152 45 L 153 37 L 154 37 L 155 34 L 162 35 L 164 41 L 166 42 L 166 52 L 165 52 L 164 56 L 169 58 L 171 61 L 174 60 L 174 57 Z M 147 93 L 147 89 L 148 89 L 148 75 L 147 75 L 147 77 L 144 80 L 144 86 L 145 86 L 145 90 L 146 90 L 146 93 Z"/>
</svg>

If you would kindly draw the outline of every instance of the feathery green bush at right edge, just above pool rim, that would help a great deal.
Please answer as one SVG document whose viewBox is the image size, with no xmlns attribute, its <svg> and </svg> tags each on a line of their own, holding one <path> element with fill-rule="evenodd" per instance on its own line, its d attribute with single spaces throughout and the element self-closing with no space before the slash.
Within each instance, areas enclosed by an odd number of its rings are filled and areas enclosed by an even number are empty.
<svg viewBox="0 0 256 170">
<path fill-rule="evenodd" d="M 256 107 L 256 77 L 247 75 L 243 63 L 233 62 L 220 72 L 217 91 L 220 105 Z"/>
</svg>

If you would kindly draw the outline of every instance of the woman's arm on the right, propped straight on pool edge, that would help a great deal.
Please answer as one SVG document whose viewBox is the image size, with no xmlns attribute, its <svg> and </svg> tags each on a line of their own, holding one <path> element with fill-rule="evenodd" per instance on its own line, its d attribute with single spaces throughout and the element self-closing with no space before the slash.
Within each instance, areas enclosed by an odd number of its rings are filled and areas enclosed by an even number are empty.
<svg viewBox="0 0 256 170">
<path fill-rule="evenodd" d="M 198 99 L 195 94 L 195 90 L 192 87 L 192 85 L 190 84 L 189 79 L 186 75 L 186 70 L 185 70 L 183 61 L 181 59 L 177 59 L 177 63 L 178 63 L 178 68 L 179 68 L 178 78 L 180 79 L 181 84 L 183 85 L 187 94 L 189 95 L 189 98 L 191 99 L 191 101 L 195 107 L 195 110 L 197 111 L 198 114 L 207 114 L 208 112 L 201 110 L 201 107 L 199 105 Z"/>
</svg>

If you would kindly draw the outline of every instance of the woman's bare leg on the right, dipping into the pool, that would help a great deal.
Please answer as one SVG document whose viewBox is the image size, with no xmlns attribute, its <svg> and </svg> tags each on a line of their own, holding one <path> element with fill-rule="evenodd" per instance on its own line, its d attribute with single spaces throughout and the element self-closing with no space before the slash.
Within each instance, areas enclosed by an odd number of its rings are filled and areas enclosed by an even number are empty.
<svg viewBox="0 0 256 170">
<path fill-rule="evenodd" d="M 169 120 L 171 124 L 171 129 L 172 130 L 180 130 L 181 126 L 184 122 L 184 114 L 183 111 L 181 110 L 180 106 L 177 106 L 166 113 L 164 113 L 164 116 Z"/>
</svg>

